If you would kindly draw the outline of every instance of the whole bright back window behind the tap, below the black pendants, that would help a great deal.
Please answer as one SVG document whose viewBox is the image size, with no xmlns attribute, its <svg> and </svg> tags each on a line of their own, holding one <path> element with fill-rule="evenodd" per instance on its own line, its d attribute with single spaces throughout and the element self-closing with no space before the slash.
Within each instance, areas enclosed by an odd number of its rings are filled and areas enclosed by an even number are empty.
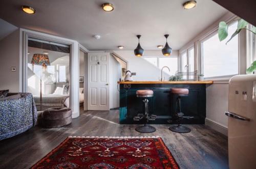
<svg viewBox="0 0 256 169">
<path fill-rule="evenodd" d="M 154 66 L 161 69 L 163 66 L 167 66 L 168 69 L 163 69 L 169 75 L 174 75 L 178 71 L 178 58 L 177 57 L 143 57 L 146 61 L 152 63 Z"/>
</svg>

